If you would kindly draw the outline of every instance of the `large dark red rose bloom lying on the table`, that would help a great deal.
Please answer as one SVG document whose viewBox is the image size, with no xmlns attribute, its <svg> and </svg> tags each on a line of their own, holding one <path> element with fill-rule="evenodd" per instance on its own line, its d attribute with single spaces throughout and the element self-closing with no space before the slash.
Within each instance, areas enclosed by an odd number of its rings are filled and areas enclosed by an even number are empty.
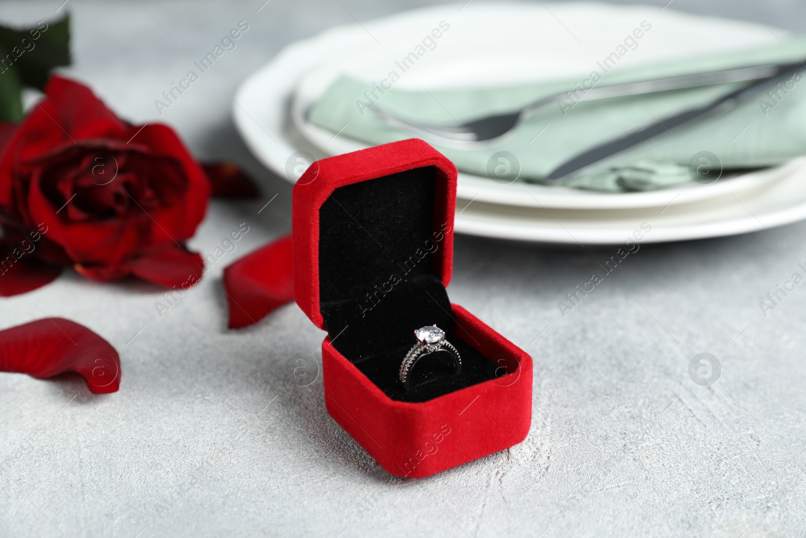
<svg viewBox="0 0 806 538">
<path fill-rule="evenodd" d="M 11 265 L 28 268 L 29 280 L 53 265 L 105 282 L 135 275 L 187 287 L 201 278 L 202 257 L 185 241 L 205 215 L 210 183 L 170 127 L 131 125 L 85 85 L 52 77 L 4 135 L 0 285 Z"/>
</svg>

